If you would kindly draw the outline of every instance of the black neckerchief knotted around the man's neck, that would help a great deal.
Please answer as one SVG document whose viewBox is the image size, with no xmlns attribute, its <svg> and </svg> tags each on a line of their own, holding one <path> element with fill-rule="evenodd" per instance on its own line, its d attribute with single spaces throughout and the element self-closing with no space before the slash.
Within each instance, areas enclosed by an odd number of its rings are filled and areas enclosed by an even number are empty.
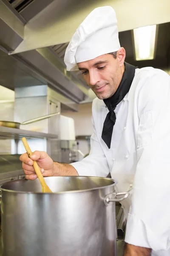
<svg viewBox="0 0 170 256">
<path fill-rule="evenodd" d="M 125 71 L 123 73 L 119 87 L 117 88 L 113 96 L 103 100 L 105 102 L 105 105 L 108 107 L 109 113 L 107 114 L 103 125 L 102 139 L 104 140 L 108 148 L 111 148 L 113 126 L 116 122 L 116 114 L 114 113 L 114 110 L 119 102 L 121 102 L 125 95 L 128 93 L 134 75 L 135 67 L 125 62 Z"/>
</svg>

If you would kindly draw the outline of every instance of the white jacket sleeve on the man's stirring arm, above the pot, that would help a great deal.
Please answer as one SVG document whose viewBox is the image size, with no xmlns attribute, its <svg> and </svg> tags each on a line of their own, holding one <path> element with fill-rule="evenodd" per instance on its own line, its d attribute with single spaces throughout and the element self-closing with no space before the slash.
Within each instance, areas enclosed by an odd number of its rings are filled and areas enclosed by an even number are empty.
<svg viewBox="0 0 170 256">
<path fill-rule="evenodd" d="M 77 170 L 79 176 L 98 176 L 107 177 L 109 174 L 109 166 L 102 147 L 96 136 L 96 129 L 92 117 L 94 132 L 91 135 L 91 151 L 83 160 L 71 163 Z"/>
</svg>

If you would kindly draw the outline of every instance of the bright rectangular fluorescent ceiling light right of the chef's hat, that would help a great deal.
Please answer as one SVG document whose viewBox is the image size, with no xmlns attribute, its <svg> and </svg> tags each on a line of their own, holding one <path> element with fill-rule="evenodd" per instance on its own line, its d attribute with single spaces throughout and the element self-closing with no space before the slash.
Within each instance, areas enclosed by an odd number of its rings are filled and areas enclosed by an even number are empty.
<svg viewBox="0 0 170 256">
<path fill-rule="evenodd" d="M 136 61 L 152 60 L 155 50 L 156 25 L 133 29 Z"/>
</svg>

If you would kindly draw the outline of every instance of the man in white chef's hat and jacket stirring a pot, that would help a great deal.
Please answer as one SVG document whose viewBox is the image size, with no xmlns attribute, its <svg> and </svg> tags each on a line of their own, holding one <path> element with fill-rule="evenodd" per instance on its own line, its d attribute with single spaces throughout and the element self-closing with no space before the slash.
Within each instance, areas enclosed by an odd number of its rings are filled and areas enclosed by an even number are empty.
<svg viewBox="0 0 170 256">
<path fill-rule="evenodd" d="M 94 9 L 71 38 L 68 71 L 81 70 L 97 98 L 92 105 L 91 152 L 61 164 L 42 151 L 21 155 L 26 178 L 87 175 L 117 180 L 127 216 L 125 256 L 170 256 L 170 76 L 125 62 L 112 7 Z"/>
</svg>

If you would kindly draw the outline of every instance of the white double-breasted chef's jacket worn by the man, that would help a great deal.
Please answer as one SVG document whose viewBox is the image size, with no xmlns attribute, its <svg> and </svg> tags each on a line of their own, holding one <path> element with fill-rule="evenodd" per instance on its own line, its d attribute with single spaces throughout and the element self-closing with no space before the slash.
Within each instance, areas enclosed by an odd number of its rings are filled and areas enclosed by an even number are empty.
<svg viewBox="0 0 170 256">
<path fill-rule="evenodd" d="M 111 148 L 102 140 L 108 108 L 94 99 L 91 152 L 72 163 L 79 175 L 116 180 L 116 192 L 133 185 L 121 202 L 127 216 L 125 241 L 170 256 L 170 76 L 152 67 L 136 69 L 129 93 L 115 109 Z"/>
</svg>

